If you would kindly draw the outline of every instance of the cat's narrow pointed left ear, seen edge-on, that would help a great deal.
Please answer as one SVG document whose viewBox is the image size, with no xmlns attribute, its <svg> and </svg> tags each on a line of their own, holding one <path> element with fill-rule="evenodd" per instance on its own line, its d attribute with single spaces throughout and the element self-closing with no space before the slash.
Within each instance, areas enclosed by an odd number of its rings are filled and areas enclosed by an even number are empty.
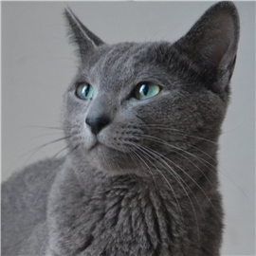
<svg viewBox="0 0 256 256">
<path fill-rule="evenodd" d="M 64 9 L 64 16 L 68 23 L 71 42 L 79 47 L 79 55 L 82 60 L 90 51 L 104 44 L 98 36 L 82 24 L 67 6 Z"/>
</svg>

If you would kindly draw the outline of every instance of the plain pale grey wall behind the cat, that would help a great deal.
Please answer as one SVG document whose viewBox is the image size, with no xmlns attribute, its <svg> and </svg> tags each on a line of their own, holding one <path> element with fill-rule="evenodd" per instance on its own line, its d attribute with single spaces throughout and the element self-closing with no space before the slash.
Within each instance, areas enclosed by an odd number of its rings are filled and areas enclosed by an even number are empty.
<svg viewBox="0 0 256 256">
<path fill-rule="evenodd" d="M 64 149 L 64 141 L 41 146 L 62 137 L 60 130 L 43 126 L 60 127 L 64 90 L 76 72 L 74 47 L 66 38 L 65 4 L 103 41 L 118 43 L 174 42 L 214 2 L 2 2 L 3 180 Z M 222 254 L 255 255 L 255 3 L 236 6 L 241 41 L 219 151 L 226 210 Z"/>
</svg>

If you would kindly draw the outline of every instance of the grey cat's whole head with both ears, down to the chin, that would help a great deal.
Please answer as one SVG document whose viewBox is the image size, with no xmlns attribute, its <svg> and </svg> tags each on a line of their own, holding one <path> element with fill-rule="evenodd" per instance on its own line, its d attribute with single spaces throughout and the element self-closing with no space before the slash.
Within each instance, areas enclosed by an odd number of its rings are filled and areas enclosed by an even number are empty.
<svg viewBox="0 0 256 256">
<path fill-rule="evenodd" d="M 70 9 L 64 14 L 81 61 L 64 95 L 76 164 L 143 175 L 159 157 L 195 147 L 214 156 L 239 39 L 231 2 L 212 6 L 174 44 L 108 45 Z"/>
</svg>

